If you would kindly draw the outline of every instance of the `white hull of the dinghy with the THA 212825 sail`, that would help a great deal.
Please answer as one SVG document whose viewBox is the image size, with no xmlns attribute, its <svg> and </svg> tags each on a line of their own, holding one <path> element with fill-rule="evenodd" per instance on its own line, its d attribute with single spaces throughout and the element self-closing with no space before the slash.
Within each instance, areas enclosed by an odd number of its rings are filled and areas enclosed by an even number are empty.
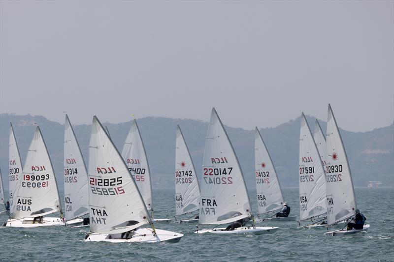
<svg viewBox="0 0 394 262">
<path fill-rule="evenodd" d="M 112 242 L 112 243 L 124 243 L 124 242 L 145 242 L 145 243 L 158 243 L 158 242 L 178 242 L 183 234 L 175 233 L 166 230 L 156 230 L 156 235 L 153 234 L 152 229 L 148 228 L 138 228 L 136 229 L 128 239 L 121 238 L 121 233 L 119 234 L 105 234 L 105 233 L 91 233 L 89 234 L 85 242 Z"/>
</svg>

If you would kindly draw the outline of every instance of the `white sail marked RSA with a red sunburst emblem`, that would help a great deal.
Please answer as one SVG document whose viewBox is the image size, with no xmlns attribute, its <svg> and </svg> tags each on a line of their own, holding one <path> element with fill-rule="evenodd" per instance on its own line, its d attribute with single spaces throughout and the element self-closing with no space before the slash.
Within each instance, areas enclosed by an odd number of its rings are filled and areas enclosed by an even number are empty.
<svg viewBox="0 0 394 262">
<path fill-rule="evenodd" d="M 255 132 L 255 175 L 259 214 L 283 208 L 283 195 L 271 156 L 259 129 Z"/>
</svg>

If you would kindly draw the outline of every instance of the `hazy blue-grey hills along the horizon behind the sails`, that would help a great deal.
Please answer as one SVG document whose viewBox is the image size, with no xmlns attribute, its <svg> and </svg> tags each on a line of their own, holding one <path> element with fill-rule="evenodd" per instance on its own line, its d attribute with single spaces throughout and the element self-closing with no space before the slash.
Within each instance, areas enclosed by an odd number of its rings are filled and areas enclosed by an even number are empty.
<svg viewBox="0 0 394 262">
<path fill-rule="evenodd" d="M 69 116 L 72 123 L 72 116 Z M 307 116 L 311 129 L 315 118 Z M 22 161 L 33 138 L 34 123 L 40 125 L 47 144 L 59 186 L 63 188 L 63 141 L 64 126 L 49 121 L 44 116 L 17 116 L 0 114 L 0 168 L 4 187 L 8 187 L 8 139 L 9 122 L 13 123 L 15 136 L 20 149 Z M 204 138 L 207 122 L 192 119 L 174 119 L 165 117 L 144 117 L 137 119 L 142 139 L 147 151 L 152 172 L 153 187 L 174 187 L 175 133 L 179 124 L 189 146 L 197 174 L 200 175 Z M 320 121 L 326 130 L 326 122 Z M 121 151 L 129 132 L 131 121 L 108 126 L 111 137 Z M 268 147 L 274 165 L 284 187 L 298 187 L 298 143 L 300 117 L 274 128 L 263 128 L 261 133 Z M 90 125 L 75 125 L 74 131 L 88 162 L 88 143 Z M 254 187 L 254 130 L 226 126 L 248 187 Z M 369 180 L 381 180 L 384 186 L 394 186 L 394 125 L 374 129 L 369 132 L 349 132 L 340 130 L 355 186 L 366 186 Z"/>
</svg>

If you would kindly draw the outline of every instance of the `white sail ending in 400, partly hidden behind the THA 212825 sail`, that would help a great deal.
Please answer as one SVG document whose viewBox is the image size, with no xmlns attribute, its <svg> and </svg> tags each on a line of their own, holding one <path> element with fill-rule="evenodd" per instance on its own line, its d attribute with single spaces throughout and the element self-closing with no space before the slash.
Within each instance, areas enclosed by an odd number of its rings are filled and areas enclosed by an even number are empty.
<svg viewBox="0 0 394 262">
<path fill-rule="evenodd" d="M 146 207 L 148 210 L 153 210 L 152 184 L 148 158 L 146 157 L 145 147 L 135 119 L 131 123 L 129 134 L 123 146 L 122 157 L 138 186 L 139 192 L 141 192 Z"/>
</svg>

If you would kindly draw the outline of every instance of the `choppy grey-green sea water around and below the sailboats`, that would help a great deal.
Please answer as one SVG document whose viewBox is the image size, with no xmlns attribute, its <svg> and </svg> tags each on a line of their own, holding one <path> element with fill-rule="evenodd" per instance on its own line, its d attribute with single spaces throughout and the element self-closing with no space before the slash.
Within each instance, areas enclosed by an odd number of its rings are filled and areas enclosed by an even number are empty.
<svg viewBox="0 0 394 262">
<path fill-rule="evenodd" d="M 185 234 L 178 243 L 84 242 L 89 228 L 0 228 L 0 261 L 393 261 L 394 189 L 356 188 L 367 233 L 325 236 L 327 229 L 297 229 L 297 222 L 263 222 L 273 234 L 196 234 L 193 224 L 157 224 Z M 256 192 L 250 200 L 256 212 Z M 284 188 L 291 215 L 299 215 L 298 189 Z M 153 191 L 155 218 L 173 217 L 174 190 Z M 7 219 L 0 215 L 1 221 Z M 2 224 L 1 222 L 1 224 Z M 209 228 L 200 226 L 200 228 Z"/>
</svg>

